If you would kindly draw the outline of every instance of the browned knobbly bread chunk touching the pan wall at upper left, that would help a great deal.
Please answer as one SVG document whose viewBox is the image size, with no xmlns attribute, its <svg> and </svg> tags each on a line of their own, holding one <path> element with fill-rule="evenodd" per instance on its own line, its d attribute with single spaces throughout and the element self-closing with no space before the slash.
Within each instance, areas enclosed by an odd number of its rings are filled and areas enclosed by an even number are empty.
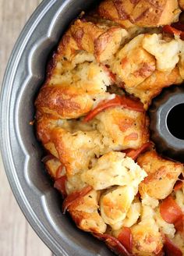
<svg viewBox="0 0 184 256">
<path fill-rule="evenodd" d="M 84 50 L 94 55 L 98 62 L 110 59 L 124 37 L 128 33 L 117 25 L 108 26 L 108 23 L 101 26 L 87 20 L 76 20 L 62 37 L 59 52 L 67 59 L 72 59 L 76 51 Z"/>
</svg>

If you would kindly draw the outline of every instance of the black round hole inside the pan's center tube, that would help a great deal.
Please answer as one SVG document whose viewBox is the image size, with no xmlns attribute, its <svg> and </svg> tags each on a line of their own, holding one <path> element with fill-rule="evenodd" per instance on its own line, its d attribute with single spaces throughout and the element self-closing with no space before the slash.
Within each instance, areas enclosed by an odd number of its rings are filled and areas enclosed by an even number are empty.
<svg viewBox="0 0 184 256">
<path fill-rule="evenodd" d="M 184 103 L 175 105 L 168 113 L 166 120 L 169 132 L 180 140 L 184 140 L 184 122 L 182 116 L 184 116 Z"/>
</svg>

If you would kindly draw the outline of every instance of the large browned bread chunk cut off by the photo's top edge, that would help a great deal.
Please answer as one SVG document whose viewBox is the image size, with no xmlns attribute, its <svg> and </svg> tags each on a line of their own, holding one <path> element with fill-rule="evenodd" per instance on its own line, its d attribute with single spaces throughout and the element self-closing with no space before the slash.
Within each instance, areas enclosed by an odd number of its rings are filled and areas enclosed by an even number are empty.
<svg viewBox="0 0 184 256">
<path fill-rule="evenodd" d="M 123 27 L 158 27 L 177 20 L 180 10 L 177 0 L 105 0 L 99 5 L 98 13 Z"/>
</svg>

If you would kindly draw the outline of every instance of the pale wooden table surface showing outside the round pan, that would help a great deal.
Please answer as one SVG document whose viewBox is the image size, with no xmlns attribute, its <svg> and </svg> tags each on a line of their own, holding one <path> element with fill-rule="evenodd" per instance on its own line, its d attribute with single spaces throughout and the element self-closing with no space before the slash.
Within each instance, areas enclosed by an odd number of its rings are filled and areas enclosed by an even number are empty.
<svg viewBox="0 0 184 256">
<path fill-rule="evenodd" d="M 13 44 L 41 0 L 0 0 L 0 86 Z M 0 156 L 0 255 L 51 256 L 34 233 L 10 190 Z"/>
</svg>

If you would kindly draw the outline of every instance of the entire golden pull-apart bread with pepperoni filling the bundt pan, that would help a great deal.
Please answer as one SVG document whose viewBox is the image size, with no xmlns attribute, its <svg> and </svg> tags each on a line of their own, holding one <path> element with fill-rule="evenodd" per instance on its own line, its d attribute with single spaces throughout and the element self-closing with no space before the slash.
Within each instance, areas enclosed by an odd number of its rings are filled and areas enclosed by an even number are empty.
<svg viewBox="0 0 184 256">
<path fill-rule="evenodd" d="M 100 2 L 62 36 L 35 101 L 63 213 L 115 254 L 184 255 L 183 164 L 157 154 L 147 116 L 184 80 L 183 8 Z"/>
</svg>

